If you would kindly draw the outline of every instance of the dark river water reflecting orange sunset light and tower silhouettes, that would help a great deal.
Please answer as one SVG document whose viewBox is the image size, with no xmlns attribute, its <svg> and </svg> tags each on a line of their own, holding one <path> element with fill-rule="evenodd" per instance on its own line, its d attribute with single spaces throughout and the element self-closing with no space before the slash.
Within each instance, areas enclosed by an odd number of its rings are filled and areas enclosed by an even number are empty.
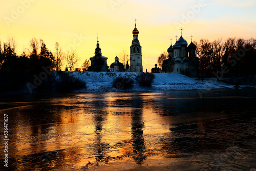
<svg viewBox="0 0 256 171">
<path fill-rule="evenodd" d="M 4 114 L 8 170 L 256 168 L 253 89 L 0 97 L 0 168 Z"/>
</svg>

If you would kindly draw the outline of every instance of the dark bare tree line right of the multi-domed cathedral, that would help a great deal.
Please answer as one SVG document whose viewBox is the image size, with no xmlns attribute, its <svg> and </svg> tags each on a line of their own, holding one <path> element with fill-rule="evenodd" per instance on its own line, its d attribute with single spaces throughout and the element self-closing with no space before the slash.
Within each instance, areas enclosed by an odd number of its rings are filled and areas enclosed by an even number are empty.
<svg viewBox="0 0 256 171">
<path fill-rule="evenodd" d="M 201 39 L 194 44 L 202 78 L 256 75 L 256 39 Z"/>
</svg>

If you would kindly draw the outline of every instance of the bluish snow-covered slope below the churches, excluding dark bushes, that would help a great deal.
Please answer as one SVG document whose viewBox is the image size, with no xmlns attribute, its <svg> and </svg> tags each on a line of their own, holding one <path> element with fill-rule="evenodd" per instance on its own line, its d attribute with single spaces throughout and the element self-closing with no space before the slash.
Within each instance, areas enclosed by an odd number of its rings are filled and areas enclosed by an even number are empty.
<svg viewBox="0 0 256 171">
<path fill-rule="evenodd" d="M 122 72 L 72 72 L 74 76 L 87 83 L 87 89 L 75 92 L 117 92 L 123 91 L 112 87 L 114 78 L 122 76 L 135 80 L 140 73 Z M 215 79 L 205 79 L 203 82 L 181 74 L 154 73 L 156 78 L 151 88 L 141 87 L 135 81 L 134 87 L 126 91 L 168 91 L 168 90 L 194 90 L 194 89 L 226 89 L 234 86 L 217 82 Z"/>
</svg>

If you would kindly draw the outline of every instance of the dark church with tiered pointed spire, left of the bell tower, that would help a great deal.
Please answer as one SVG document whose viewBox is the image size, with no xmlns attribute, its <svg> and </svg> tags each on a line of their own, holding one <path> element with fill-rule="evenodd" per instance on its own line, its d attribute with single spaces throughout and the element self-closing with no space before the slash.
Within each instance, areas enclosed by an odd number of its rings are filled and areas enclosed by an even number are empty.
<svg viewBox="0 0 256 171">
<path fill-rule="evenodd" d="M 97 45 L 93 57 L 90 57 L 91 66 L 88 67 L 88 71 L 103 71 L 106 72 L 109 69 L 106 60 L 107 57 L 101 55 L 101 49 L 99 48 L 99 38 L 97 39 Z"/>
</svg>

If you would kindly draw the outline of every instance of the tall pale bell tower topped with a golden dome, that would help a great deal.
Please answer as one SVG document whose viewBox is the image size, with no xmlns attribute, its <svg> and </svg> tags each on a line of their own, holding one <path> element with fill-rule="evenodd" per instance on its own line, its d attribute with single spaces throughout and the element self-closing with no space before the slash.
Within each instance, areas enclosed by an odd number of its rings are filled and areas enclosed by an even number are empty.
<svg viewBox="0 0 256 171">
<path fill-rule="evenodd" d="M 143 72 L 142 67 L 142 54 L 140 41 L 138 39 L 139 30 L 136 28 L 136 19 L 135 19 L 135 28 L 133 30 L 133 41 L 132 46 L 130 47 L 130 72 Z"/>
</svg>

